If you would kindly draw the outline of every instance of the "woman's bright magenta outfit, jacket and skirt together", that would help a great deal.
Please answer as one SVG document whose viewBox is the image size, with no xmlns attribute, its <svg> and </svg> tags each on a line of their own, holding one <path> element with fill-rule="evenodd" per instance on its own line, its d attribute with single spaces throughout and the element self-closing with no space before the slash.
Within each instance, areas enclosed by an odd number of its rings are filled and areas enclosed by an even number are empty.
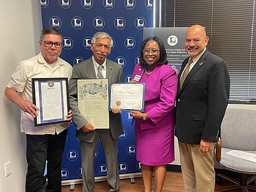
<svg viewBox="0 0 256 192">
<path fill-rule="evenodd" d="M 135 119 L 137 160 L 144 165 L 159 166 L 174 161 L 174 102 L 177 75 L 168 65 L 157 65 L 151 74 L 140 64 L 135 66 L 133 79 L 145 83 L 144 112 L 149 119 Z"/>
</svg>

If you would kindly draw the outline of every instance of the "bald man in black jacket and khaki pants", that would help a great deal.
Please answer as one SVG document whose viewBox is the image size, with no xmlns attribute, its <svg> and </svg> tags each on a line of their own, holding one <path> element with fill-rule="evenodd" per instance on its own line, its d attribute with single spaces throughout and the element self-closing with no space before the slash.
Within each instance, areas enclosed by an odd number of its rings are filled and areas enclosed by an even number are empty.
<svg viewBox="0 0 256 192">
<path fill-rule="evenodd" d="M 185 191 L 214 191 L 213 146 L 229 101 L 229 71 L 226 62 L 207 49 L 204 27 L 191 26 L 177 93 L 176 136 Z"/>
</svg>

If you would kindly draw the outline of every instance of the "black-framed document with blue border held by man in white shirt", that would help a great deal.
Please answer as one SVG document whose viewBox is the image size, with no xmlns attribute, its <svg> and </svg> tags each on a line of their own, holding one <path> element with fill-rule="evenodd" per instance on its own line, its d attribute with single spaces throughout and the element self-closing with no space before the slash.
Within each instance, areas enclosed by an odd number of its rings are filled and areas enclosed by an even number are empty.
<svg viewBox="0 0 256 192">
<path fill-rule="evenodd" d="M 69 111 L 68 78 L 32 78 L 33 104 L 40 108 L 35 126 L 64 123 Z"/>
</svg>

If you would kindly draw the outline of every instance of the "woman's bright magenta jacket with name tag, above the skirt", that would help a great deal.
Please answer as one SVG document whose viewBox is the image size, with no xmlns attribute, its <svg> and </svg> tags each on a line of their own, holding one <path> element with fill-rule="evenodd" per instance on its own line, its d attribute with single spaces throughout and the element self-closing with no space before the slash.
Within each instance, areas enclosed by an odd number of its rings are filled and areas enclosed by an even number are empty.
<svg viewBox="0 0 256 192">
<path fill-rule="evenodd" d="M 177 74 L 169 65 L 157 65 L 148 80 L 144 81 L 144 67 L 138 63 L 132 79 L 145 83 L 144 112 L 149 119 L 136 119 L 135 126 L 141 129 L 152 129 L 175 121 L 174 103 L 177 94 Z"/>
</svg>

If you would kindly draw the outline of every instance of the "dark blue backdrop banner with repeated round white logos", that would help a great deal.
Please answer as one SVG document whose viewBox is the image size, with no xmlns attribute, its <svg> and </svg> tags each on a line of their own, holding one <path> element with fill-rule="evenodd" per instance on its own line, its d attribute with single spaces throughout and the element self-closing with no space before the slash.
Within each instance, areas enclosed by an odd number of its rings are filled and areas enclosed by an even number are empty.
<svg viewBox="0 0 256 192">
<path fill-rule="evenodd" d="M 108 59 L 123 66 L 129 82 L 140 54 L 144 27 L 152 27 L 152 0 L 40 0 L 43 27 L 54 27 L 63 34 L 62 59 L 71 65 L 89 59 L 94 33 L 110 34 L 114 47 Z M 124 132 L 118 138 L 118 168 L 120 174 L 140 172 L 132 117 L 122 113 Z M 76 127 L 68 128 L 63 152 L 62 179 L 81 178 L 80 146 Z M 95 176 L 105 176 L 107 165 L 99 142 L 95 154 Z"/>
</svg>

